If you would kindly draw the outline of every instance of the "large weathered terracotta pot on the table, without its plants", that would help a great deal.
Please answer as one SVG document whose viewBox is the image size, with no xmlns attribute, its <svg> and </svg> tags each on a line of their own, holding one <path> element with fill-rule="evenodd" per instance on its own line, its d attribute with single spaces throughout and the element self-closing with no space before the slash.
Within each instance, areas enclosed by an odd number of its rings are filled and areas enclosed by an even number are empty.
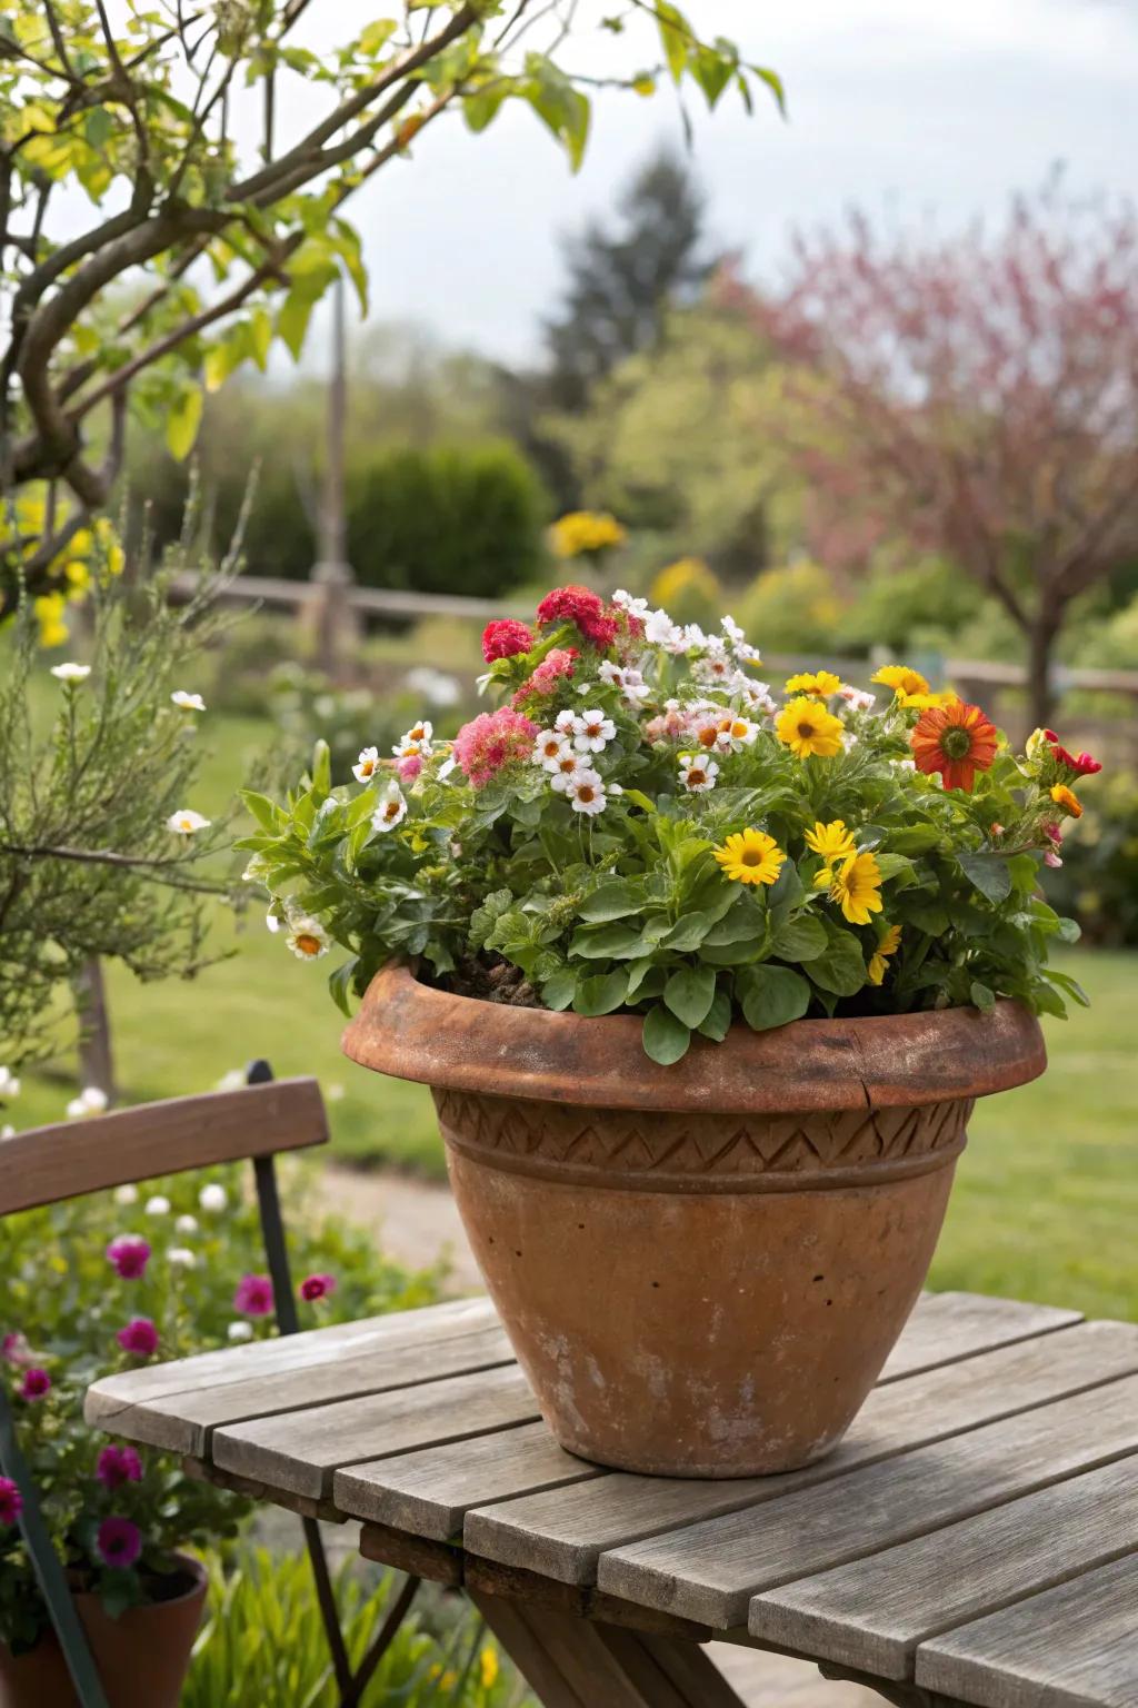
<svg viewBox="0 0 1138 1708">
<path fill-rule="evenodd" d="M 432 1086 L 486 1288 L 563 1447 L 737 1477 L 829 1454 L 928 1272 L 976 1097 L 1034 1079 L 1013 1003 L 798 1020 L 674 1068 L 633 1016 L 380 972 L 345 1032 Z"/>
</svg>

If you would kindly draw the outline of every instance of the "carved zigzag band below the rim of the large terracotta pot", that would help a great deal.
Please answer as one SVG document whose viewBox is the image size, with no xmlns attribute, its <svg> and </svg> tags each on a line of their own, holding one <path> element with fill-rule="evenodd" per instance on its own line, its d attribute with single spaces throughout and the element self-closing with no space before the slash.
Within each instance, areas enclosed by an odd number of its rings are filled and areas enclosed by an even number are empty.
<svg viewBox="0 0 1138 1708">
<path fill-rule="evenodd" d="M 957 1149 L 973 1102 L 798 1115 L 590 1110 L 474 1091 L 435 1091 L 438 1122 L 466 1146 L 616 1173 L 821 1173 Z"/>
</svg>

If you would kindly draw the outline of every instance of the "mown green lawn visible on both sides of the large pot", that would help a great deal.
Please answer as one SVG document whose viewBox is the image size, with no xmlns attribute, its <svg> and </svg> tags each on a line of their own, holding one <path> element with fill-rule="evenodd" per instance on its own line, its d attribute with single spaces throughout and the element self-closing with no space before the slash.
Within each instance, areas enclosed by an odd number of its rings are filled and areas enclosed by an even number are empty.
<svg viewBox="0 0 1138 1708">
<path fill-rule="evenodd" d="M 203 741 L 218 731 L 224 741 L 191 803 L 206 813 L 224 808 L 271 741 L 256 719 L 208 721 Z M 227 919 L 218 924 L 217 948 L 235 955 L 191 982 L 143 987 L 111 968 L 125 1095 L 206 1090 L 264 1056 L 278 1074 L 317 1074 L 341 1160 L 444 1179 L 430 1093 L 340 1054 L 340 1016 L 322 977 L 329 962 L 293 960 L 256 907 L 239 933 Z M 1071 950 L 1065 967 L 1092 1008 L 1044 1021 L 1044 1079 L 978 1105 L 932 1283 L 1138 1320 L 1138 955 Z M 60 1119 L 72 1091 L 68 1064 L 29 1076 L 20 1126 Z"/>
</svg>

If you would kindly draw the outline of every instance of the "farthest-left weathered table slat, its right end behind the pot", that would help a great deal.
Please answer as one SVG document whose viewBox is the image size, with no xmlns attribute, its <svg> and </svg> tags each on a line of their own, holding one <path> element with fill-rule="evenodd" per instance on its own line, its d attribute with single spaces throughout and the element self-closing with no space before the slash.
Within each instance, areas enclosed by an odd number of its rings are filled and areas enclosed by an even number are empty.
<svg viewBox="0 0 1138 1708">
<path fill-rule="evenodd" d="M 104 1377 L 87 1390 L 84 1416 L 131 1442 L 203 1457 L 217 1424 L 512 1358 L 490 1300 L 456 1300 Z"/>
</svg>

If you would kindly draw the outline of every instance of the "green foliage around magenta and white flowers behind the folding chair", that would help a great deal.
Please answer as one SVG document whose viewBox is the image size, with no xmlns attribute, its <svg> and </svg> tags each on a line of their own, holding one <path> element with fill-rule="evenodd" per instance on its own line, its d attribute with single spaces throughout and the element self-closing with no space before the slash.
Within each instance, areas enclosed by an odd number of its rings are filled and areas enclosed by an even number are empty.
<svg viewBox="0 0 1138 1708">
<path fill-rule="evenodd" d="M 56 1547 L 73 1578 L 109 1607 L 155 1597 L 177 1547 L 208 1547 L 237 1534 L 246 1503 L 188 1477 L 179 1460 L 142 1450 L 140 1479 L 107 1488 L 96 1474 L 107 1438 L 82 1419 L 87 1387 L 113 1370 L 145 1363 L 118 1344 L 135 1319 L 157 1331 L 159 1358 L 184 1358 L 225 1346 L 235 1334 L 264 1336 L 273 1317 L 244 1317 L 235 1307 L 242 1274 L 264 1271 L 256 1204 L 239 1168 L 176 1175 L 142 1189 L 72 1199 L 0 1221 L 0 1360 L 15 1389 L 17 1433 L 29 1459 Z M 201 1196 L 205 1194 L 205 1197 Z M 220 1196 L 218 1196 L 220 1194 Z M 292 1194 L 290 1194 L 292 1196 Z M 302 1194 L 295 1194 L 300 1202 Z M 123 1235 L 145 1238 L 145 1274 L 121 1278 L 107 1247 Z M 430 1303 L 430 1274 L 411 1276 L 374 1250 L 370 1235 L 341 1220 L 293 1214 L 290 1257 L 297 1279 L 334 1276 L 334 1291 L 300 1303 L 307 1327 Z M 46 1370 L 51 1390 L 22 1399 L 26 1368 Z M 126 1570 L 107 1566 L 97 1530 L 107 1517 L 142 1534 L 142 1554 Z M 19 1530 L 0 1529 L 0 1641 L 32 1647 L 46 1628 Z"/>
</svg>

